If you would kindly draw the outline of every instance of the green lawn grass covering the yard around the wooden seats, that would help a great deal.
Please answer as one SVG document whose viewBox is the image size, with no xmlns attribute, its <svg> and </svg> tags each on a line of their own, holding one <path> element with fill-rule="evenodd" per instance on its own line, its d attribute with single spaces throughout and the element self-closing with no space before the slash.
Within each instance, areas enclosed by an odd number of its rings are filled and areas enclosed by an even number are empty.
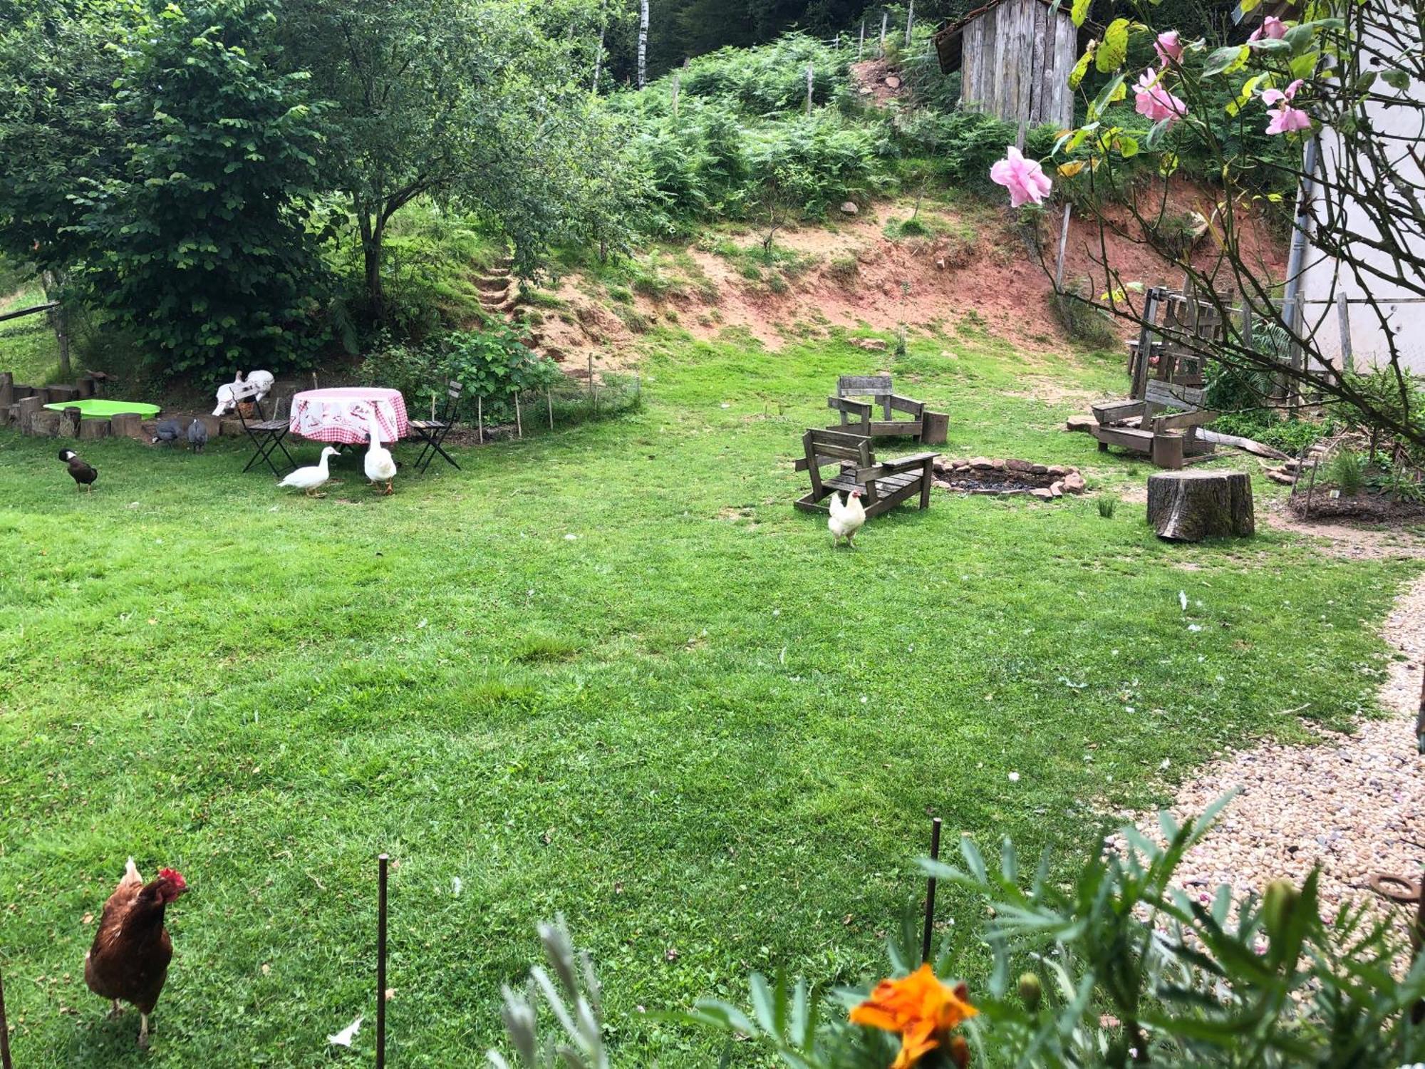
<svg viewBox="0 0 1425 1069">
<path fill-rule="evenodd" d="M 748 969 L 872 978 L 932 814 L 952 844 L 1010 834 L 1064 868 L 1213 751 L 1301 737 L 1290 710 L 1374 708 L 1406 564 L 940 492 L 834 552 L 791 509 L 829 382 L 878 366 L 948 408 L 949 452 L 1141 482 L 1059 429 L 1073 405 L 1025 396 L 1036 376 L 1117 389 L 1116 359 L 1027 361 L 975 329 L 903 359 L 651 339 L 641 410 L 408 469 L 392 497 L 358 455 L 329 496 L 289 496 L 227 439 L 88 445 L 81 495 L 56 443 L 0 435 L 19 1066 L 322 1062 L 375 1011 L 379 851 L 392 1065 L 480 1063 L 557 911 L 620 1063 L 710 1065 L 638 1008 L 741 998 Z M 83 918 L 130 854 L 192 888 L 147 1055 L 83 983 Z M 940 904 L 982 981 L 979 908 Z"/>
</svg>

